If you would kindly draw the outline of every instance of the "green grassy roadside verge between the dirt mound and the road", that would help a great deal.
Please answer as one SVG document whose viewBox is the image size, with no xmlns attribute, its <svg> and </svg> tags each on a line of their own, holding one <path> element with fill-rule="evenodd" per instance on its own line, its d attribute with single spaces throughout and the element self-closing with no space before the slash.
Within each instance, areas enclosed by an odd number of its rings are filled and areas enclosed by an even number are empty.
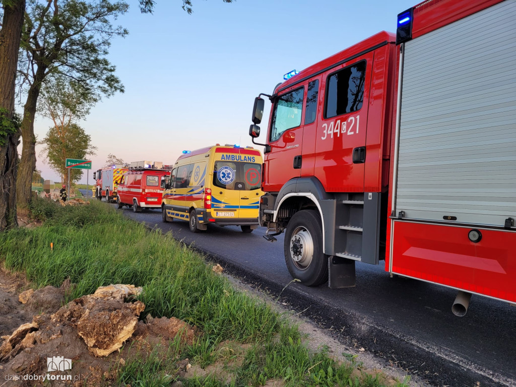
<svg viewBox="0 0 516 387">
<path fill-rule="evenodd" d="M 362 374 L 353 361 L 336 362 L 324 347 L 309 351 L 288 316 L 236 291 L 171 235 L 150 232 L 97 201 L 60 207 L 37 200 L 31 212 L 44 221 L 41 227 L 0 234 L 6 268 L 24 272 L 37 287 L 59 286 L 69 277 L 77 284 L 69 300 L 111 283 L 142 286 L 145 314 L 180 318 L 203 332 L 193 345 L 171 345 L 166 357 L 155 352 L 144 362 L 128 361 L 118 370 L 120 385 L 170 385 L 177 363 L 185 358 L 202 368 L 227 365 L 234 353 L 223 346 L 229 342 L 247 344 L 231 381 L 212 375 L 183 379 L 184 385 L 260 386 L 270 380 L 284 386 L 382 385 L 382 376 Z"/>
</svg>

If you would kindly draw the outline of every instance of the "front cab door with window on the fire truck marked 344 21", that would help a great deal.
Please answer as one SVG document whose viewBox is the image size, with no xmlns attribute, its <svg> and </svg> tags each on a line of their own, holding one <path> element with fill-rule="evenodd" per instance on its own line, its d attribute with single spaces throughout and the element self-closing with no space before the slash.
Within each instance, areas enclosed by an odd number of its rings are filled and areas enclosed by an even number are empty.
<svg viewBox="0 0 516 387">
<path fill-rule="evenodd" d="M 295 87 L 280 94 L 274 104 L 268 133 L 271 152 L 265 155 L 267 191 L 279 191 L 285 182 L 301 175 L 305 93 L 303 86 Z"/>
</svg>

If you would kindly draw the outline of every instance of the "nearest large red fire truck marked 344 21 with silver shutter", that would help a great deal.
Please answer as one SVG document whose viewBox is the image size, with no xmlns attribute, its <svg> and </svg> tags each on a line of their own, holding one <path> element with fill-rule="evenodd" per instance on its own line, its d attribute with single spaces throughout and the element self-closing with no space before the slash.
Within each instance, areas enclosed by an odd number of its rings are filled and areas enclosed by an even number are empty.
<svg viewBox="0 0 516 387">
<path fill-rule="evenodd" d="M 272 102 L 260 222 L 294 278 L 355 262 L 516 303 L 516 2 L 428 0 L 260 94 Z M 255 142 L 256 143 L 256 142 Z"/>
</svg>

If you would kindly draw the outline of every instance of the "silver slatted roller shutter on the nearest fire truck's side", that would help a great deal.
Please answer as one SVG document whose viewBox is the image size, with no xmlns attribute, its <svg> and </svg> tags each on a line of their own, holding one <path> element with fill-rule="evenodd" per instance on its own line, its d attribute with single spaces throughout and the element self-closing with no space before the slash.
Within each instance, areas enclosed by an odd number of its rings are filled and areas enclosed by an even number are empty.
<svg viewBox="0 0 516 387">
<path fill-rule="evenodd" d="M 516 217 L 516 2 L 406 43 L 397 216 Z"/>
</svg>

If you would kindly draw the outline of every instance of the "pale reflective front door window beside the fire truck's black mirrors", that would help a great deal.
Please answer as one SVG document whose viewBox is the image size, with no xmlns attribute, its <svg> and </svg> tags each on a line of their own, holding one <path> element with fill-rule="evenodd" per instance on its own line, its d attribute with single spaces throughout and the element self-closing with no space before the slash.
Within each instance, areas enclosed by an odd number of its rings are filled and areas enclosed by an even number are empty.
<svg viewBox="0 0 516 387">
<path fill-rule="evenodd" d="M 301 125 L 303 92 L 304 89 L 300 87 L 276 98 L 270 130 L 270 141 L 278 140 L 285 131 Z"/>
</svg>

